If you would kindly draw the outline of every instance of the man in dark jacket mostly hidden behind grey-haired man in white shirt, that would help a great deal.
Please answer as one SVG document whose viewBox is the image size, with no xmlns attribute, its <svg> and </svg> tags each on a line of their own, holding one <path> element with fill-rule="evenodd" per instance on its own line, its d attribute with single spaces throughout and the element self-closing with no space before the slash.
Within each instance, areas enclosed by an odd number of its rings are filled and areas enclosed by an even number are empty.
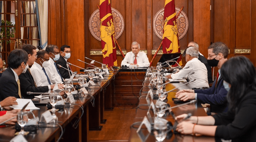
<svg viewBox="0 0 256 142">
<path fill-rule="evenodd" d="M 207 69 L 208 83 L 212 83 L 213 80 L 212 80 L 212 68 L 211 68 L 211 66 L 208 65 L 207 59 L 204 57 L 204 55 L 199 52 L 199 45 L 195 41 L 191 41 L 191 42 L 188 43 L 188 47 L 191 47 L 191 46 L 194 46 L 198 49 L 198 53 L 199 53 L 198 60 L 201 61 L 202 63 L 204 63 L 204 65 Z M 185 49 L 183 54 L 185 54 L 185 53 L 186 53 L 186 49 Z"/>
</svg>

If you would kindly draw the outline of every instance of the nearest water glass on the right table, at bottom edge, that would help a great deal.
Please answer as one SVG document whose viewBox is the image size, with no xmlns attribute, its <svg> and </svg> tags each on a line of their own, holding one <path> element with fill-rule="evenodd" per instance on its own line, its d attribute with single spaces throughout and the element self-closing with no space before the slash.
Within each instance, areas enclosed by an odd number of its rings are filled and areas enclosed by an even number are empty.
<svg viewBox="0 0 256 142">
<path fill-rule="evenodd" d="M 154 135 L 157 141 L 163 141 L 166 138 L 167 125 L 162 118 L 157 118 L 154 121 Z"/>
</svg>

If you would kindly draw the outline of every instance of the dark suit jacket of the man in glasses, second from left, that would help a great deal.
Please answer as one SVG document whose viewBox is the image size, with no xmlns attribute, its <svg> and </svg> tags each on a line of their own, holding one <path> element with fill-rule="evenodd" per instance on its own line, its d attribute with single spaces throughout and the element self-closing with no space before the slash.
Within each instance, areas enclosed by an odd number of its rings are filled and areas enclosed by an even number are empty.
<svg viewBox="0 0 256 142">
<path fill-rule="evenodd" d="M 34 78 L 30 74 L 30 72 L 27 70 L 25 73 L 21 73 L 19 76 L 20 78 L 20 92 L 21 96 L 25 99 L 33 99 L 34 94 L 28 95 L 27 92 L 47 92 L 48 86 L 40 86 L 36 87 L 34 83 Z M 38 94 L 39 95 L 39 94 Z"/>
</svg>

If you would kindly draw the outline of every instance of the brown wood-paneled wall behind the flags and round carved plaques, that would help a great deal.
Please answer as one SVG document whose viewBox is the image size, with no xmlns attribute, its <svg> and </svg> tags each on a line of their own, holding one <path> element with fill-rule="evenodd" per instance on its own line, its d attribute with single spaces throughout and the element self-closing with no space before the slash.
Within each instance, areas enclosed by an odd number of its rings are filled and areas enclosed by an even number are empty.
<svg viewBox="0 0 256 142">
<path fill-rule="evenodd" d="M 97 9 L 100 0 L 48 0 L 49 32 L 48 43 L 61 46 L 68 44 L 73 51 L 70 62 L 85 67 L 77 61 L 84 56 L 102 62 L 102 56 L 91 56 L 90 50 L 101 50 L 100 41 L 89 30 L 89 18 Z M 125 21 L 123 34 L 117 39 L 122 50 L 131 51 L 132 41 L 147 50 L 149 61 L 152 49 L 161 43 L 153 31 L 152 22 L 157 11 L 164 8 L 164 0 L 110 0 L 111 6 L 118 10 Z M 255 65 L 256 0 L 176 0 L 175 6 L 187 14 L 189 28 L 187 34 L 179 40 L 180 49 L 186 49 L 188 42 L 196 41 L 199 50 L 207 57 L 207 47 L 211 42 L 222 41 L 230 48 L 230 56 L 235 56 L 234 49 L 251 49 L 245 54 Z M 210 5 L 212 4 L 212 11 Z M 220 8 L 221 7 L 221 8 Z M 211 14 L 212 13 L 212 14 Z M 212 16 L 212 20 L 211 20 Z M 162 48 L 161 48 L 162 49 Z M 118 49 L 117 49 L 118 50 Z M 239 54 L 240 55 L 240 54 Z M 153 66 L 161 55 L 157 55 Z M 123 56 L 117 55 L 120 66 Z M 185 64 L 184 58 L 183 63 Z M 86 60 L 86 62 L 90 62 Z M 100 66 L 100 64 L 95 64 Z M 76 68 L 76 70 L 79 70 Z"/>
</svg>

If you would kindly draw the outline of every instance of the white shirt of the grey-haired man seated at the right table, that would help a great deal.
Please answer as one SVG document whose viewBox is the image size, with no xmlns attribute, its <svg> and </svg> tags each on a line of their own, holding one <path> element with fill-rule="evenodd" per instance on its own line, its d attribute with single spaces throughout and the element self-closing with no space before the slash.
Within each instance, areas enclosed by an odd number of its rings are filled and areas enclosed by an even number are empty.
<svg viewBox="0 0 256 142">
<path fill-rule="evenodd" d="M 201 61 L 199 61 L 197 58 L 193 58 L 192 60 L 188 61 L 186 63 L 185 67 L 188 67 L 187 69 L 183 69 L 175 74 L 172 74 L 171 77 L 173 79 L 178 79 L 183 76 L 184 78 L 188 78 L 190 81 L 196 79 L 194 82 L 190 82 L 188 84 L 189 87 L 191 88 L 200 88 L 200 87 L 208 87 L 208 74 L 207 74 L 207 69 Z M 194 74 L 188 75 L 187 74 L 195 72 Z"/>
</svg>

